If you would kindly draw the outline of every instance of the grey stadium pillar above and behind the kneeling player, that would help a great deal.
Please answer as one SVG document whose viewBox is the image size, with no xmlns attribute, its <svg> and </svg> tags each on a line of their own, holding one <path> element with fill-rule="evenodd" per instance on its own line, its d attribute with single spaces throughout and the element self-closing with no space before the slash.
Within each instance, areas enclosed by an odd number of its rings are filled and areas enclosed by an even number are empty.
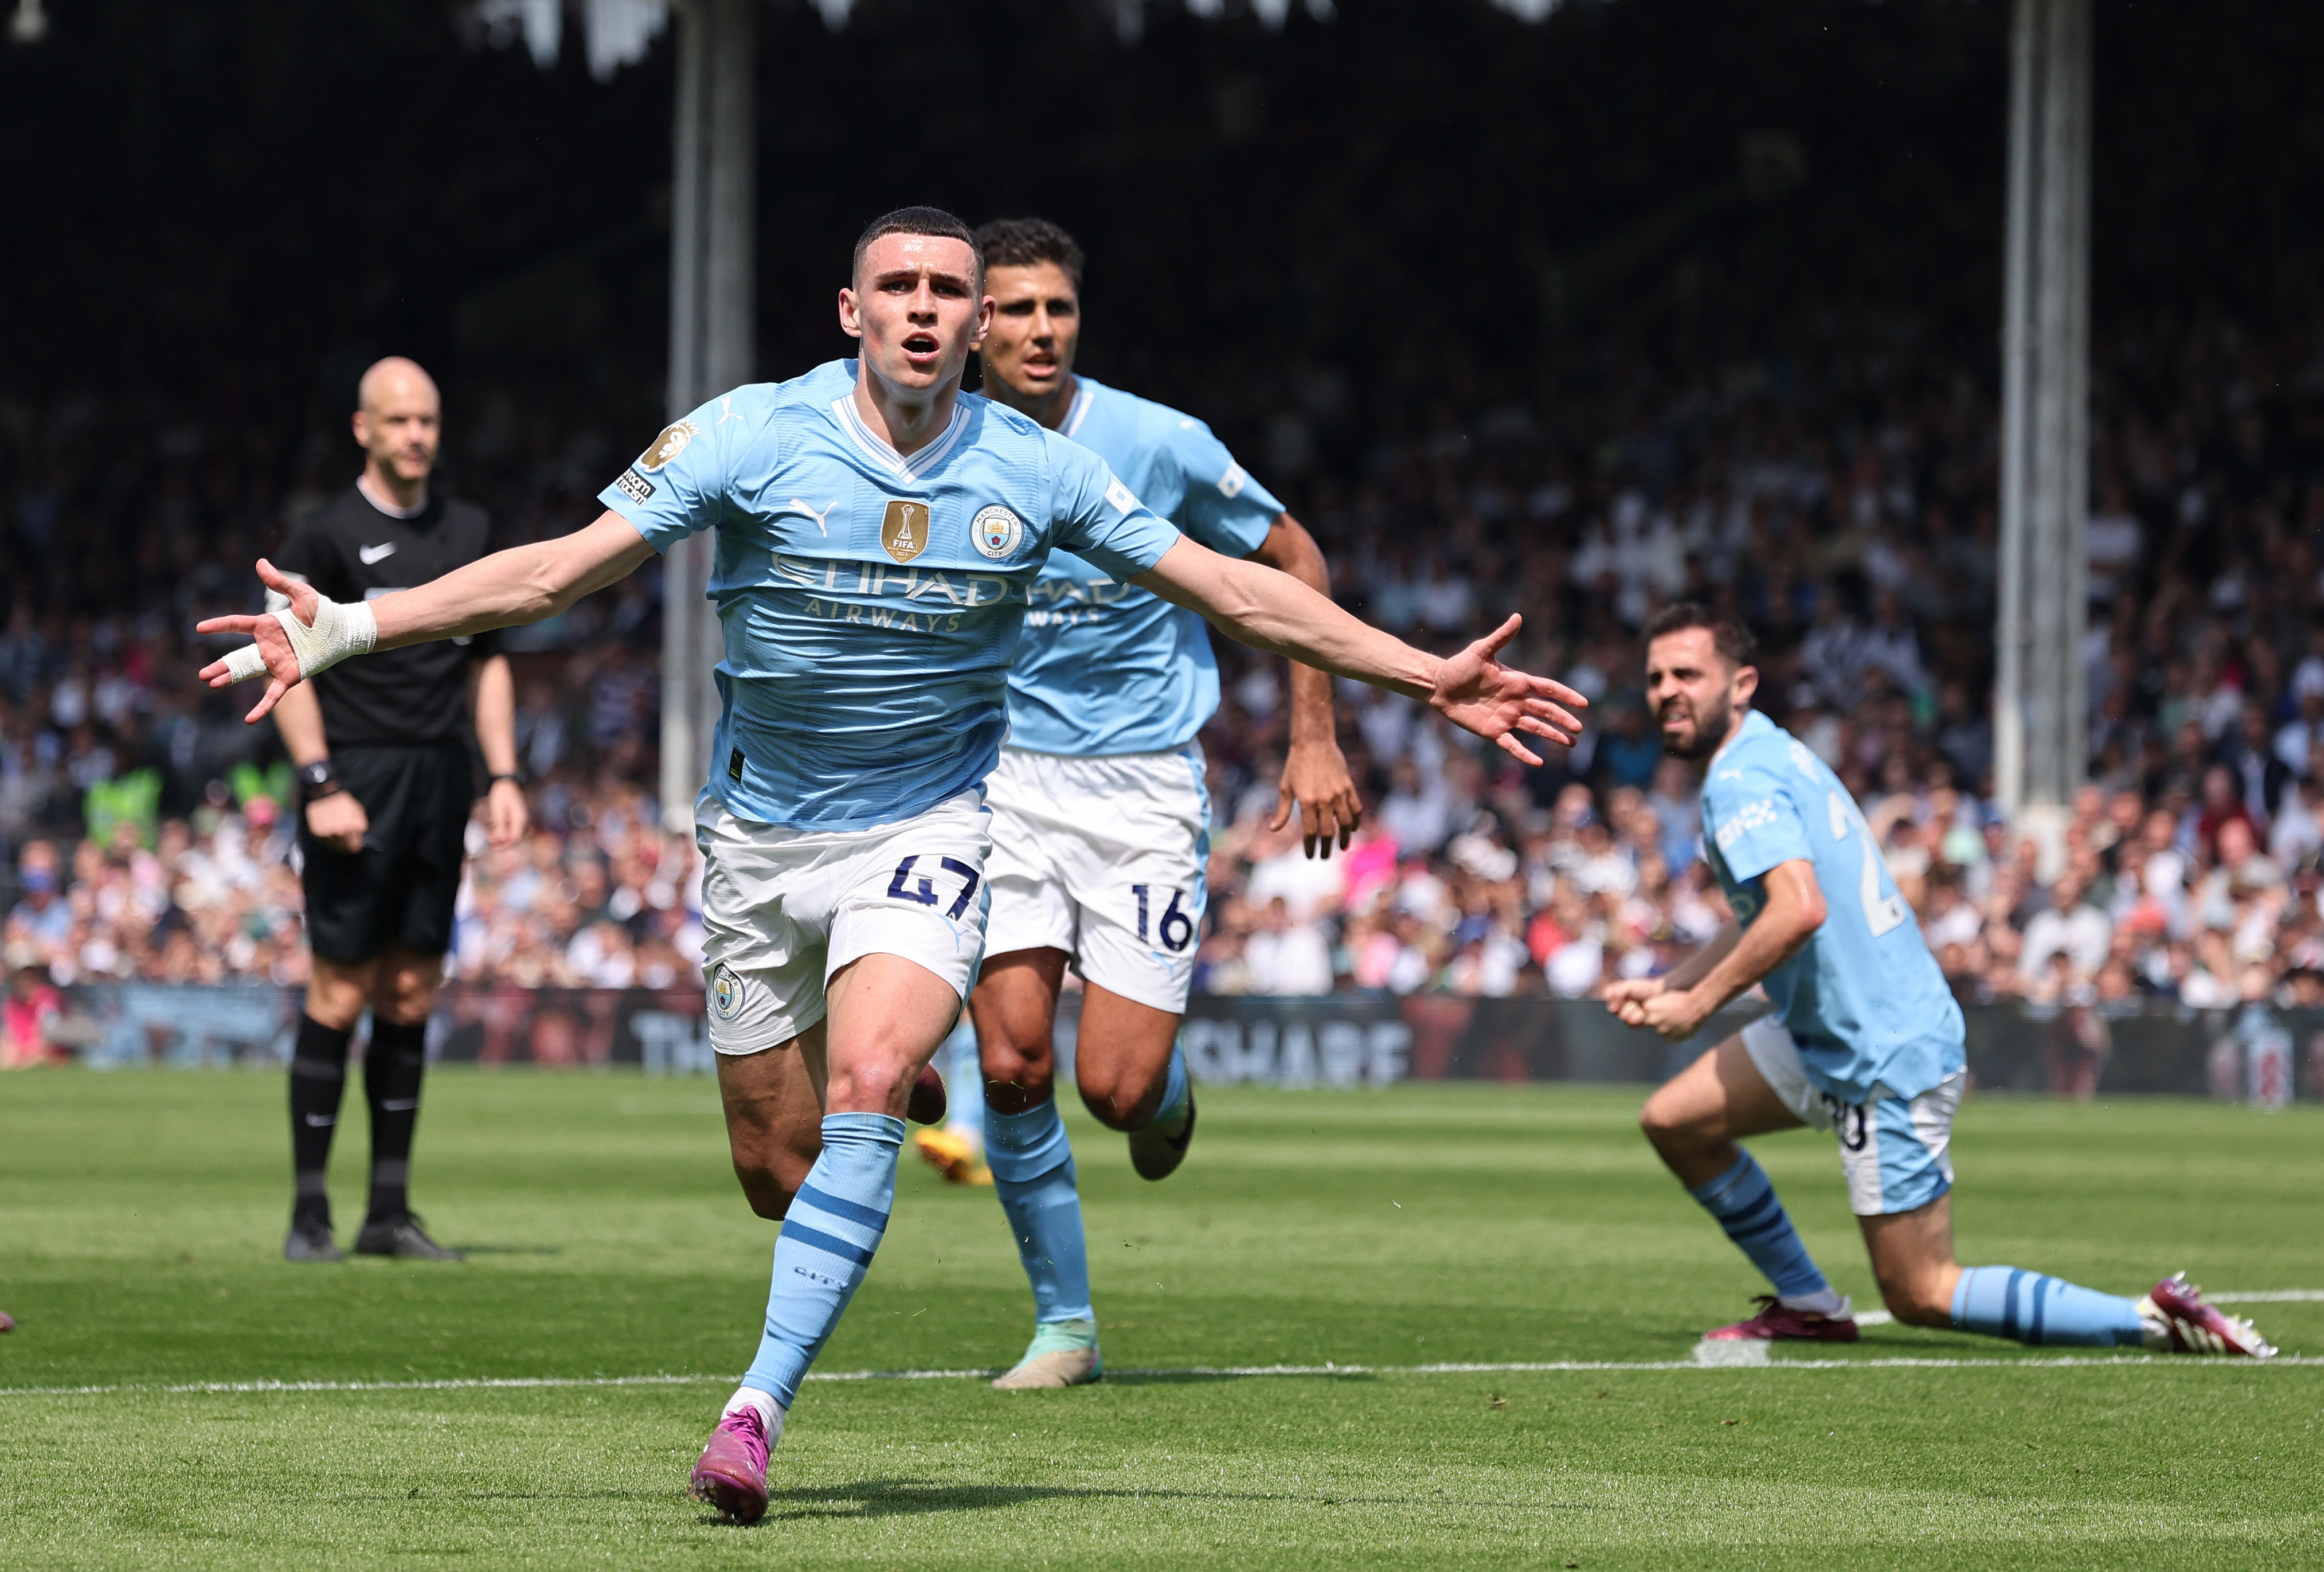
<svg viewBox="0 0 2324 1572">
<path fill-rule="evenodd" d="M 2057 816 L 2089 763 L 2089 0 L 2017 0 L 1994 791 L 2033 819 Z"/>
</svg>

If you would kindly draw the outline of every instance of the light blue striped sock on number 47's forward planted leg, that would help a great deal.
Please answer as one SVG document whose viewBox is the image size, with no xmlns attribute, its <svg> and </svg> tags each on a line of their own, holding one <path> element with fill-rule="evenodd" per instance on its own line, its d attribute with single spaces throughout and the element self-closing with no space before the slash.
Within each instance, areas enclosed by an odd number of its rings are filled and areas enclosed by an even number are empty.
<svg viewBox="0 0 2324 1572">
<path fill-rule="evenodd" d="M 772 1393 L 786 1409 L 799 1379 L 823 1353 L 832 1328 L 871 1267 L 895 1207 L 895 1158 L 904 1121 L 888 1114 L 827 1114 L 823 1156 L 790 1202 L 774 1242 L 767 1332 L 744 1386 Z"/>
</svg>

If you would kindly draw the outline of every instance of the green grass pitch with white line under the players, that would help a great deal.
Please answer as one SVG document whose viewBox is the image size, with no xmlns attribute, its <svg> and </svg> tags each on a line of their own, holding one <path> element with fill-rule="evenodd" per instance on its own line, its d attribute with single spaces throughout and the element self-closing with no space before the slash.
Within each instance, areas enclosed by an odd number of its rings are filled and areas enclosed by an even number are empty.
<svg viewBox="0 0 2324 1572">
<path fill-rule="evenodd" d="M 472 1251 L 451 1267 L 284 1265 L 281 1100 L 256 1074 L 0 1081 L 0 1567 L 2324 1563 L 2324 1365 L 1889 1326 L 1655 1367 L 1757 1281 L 1652 1163 L 1638 1093 L 1571 1086 L 1208 1091 L 1160 1186 L 1076 1109 L 1113 1374 L 811 1381 L 767 1521 L 727 1528 L 681 1488 L 774 1228 L 706 1081 L 437 1074 L 416 1200 Z M 1868 1305 L 1829 1139 L 1757 1151 Z M 1982 1098 L 1954 1153 L 1964 1260 L 2324 1288 L 2319 1109 Z M 2324 1302 L 2247 1314 L 2324 1353 Z M 1027 1321 L 992 1195 L 906 1158 L 820 1370 L 992 1367 Z M 1903 1358 L 1938 1363 L 1878 1363 Z M 1415 1370 L 1557 1360 L 1606 1367 Z M 1325 1363 L 1367 1370 L 1188 1374 Z M 179 1391 L 205 1384 L 342 1386 Z"/>
</svg>

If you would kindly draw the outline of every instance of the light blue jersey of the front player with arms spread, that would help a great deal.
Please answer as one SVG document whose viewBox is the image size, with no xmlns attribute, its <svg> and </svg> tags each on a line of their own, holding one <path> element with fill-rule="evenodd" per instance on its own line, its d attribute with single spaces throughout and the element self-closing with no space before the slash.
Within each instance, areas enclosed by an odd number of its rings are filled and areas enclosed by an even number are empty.
<svg viewBox="0 0 2324 1572">
<path fill-rule="evenodd" d="M 813 830 L 895 823 L 990 774 L 1050 549 L 1127 579 L 1178 542 L 1102 458 L 971 393 L 899 456 L 855 412 L 853 360 L 713 398 L 600 495 L 655 551 L 718 533 L 702 800 Z"/>
</svg>

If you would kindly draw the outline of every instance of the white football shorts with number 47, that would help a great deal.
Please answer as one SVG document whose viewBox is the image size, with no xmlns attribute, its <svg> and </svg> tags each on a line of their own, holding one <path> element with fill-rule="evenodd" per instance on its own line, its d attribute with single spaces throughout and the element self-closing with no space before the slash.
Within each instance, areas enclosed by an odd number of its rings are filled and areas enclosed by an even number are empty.
<svg viewBox="0 0 2324 1572">
<path fill-rule="evenodd" d="M 723 807 L 702 846 L 711 1046 L 758 1053 L 823 1019 L 832 972 L 902 956 L 960 998 L 985 953 L 992 816 L 964 791 L 874 830 L 788 830 Z"/>
</svg>

